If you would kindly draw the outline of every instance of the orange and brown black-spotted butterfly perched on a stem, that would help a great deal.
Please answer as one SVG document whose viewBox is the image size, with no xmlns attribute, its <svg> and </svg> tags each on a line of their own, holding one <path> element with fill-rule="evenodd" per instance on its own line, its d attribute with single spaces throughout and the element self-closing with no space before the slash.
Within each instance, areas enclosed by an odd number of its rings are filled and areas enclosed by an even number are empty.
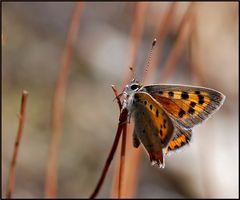
<svg viewBox="0 0 240 200">
<path fill-rule="evenodd" d="M 123 107 L 134 119 L 133 146 L 140 144 L 152 165 L 165 166 L 165 156 L 187 145 L 192 128 L 208 119 L 225 96 L 210 88 L 155 84 L 133 79 L 123 90 Z"/>
</svg>

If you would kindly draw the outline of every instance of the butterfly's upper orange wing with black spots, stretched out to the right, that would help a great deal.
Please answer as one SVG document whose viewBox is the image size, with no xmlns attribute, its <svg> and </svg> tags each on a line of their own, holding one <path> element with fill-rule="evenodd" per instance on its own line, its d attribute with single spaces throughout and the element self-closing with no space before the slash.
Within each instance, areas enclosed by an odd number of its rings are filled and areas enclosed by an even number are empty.
<svg viewBox="0 0 240 200">
<path fill-rule="evenodd" d="M 149 85 L 149 93 L 178 124 L 192 128 L 213 114 L 225 96 L 204 87 L 182 85 Z"/>
</svg>

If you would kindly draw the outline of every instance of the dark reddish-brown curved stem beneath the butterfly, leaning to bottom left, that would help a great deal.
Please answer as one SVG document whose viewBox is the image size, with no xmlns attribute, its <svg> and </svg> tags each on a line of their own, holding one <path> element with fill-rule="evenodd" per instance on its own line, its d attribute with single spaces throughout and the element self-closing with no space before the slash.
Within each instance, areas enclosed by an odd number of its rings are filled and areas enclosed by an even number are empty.
<svg viewBox="0 0 240 200">
<path fill-rule="evenodd" d="M 123 109 L 121 114 L 120 114 L 120 117 L 119 117 L 118 129 L 117 129 L 117 133 L 116 133 L 113 145 L 112 145 L 112 149 L 111 149 L 111 151 L 108 155 L 108 158 L 107 158 L 106 163 L 104 165 L 104 168 L 103 168 L 101 177 L 100 177 L 100 179 L 97 183 L 97 186 L 96 186 L 94 192 L 92 193 L 92 195 L 90 196 L 91 199 L 93 199 L 97 196 L 100 188 L 102 187 L 103 181 L 104 181 L 104 179 L 106 177 L 106 174 L 107 174 L 107 171 L 108 171 L 108 168 L 109 168 L 109 166 L 112 162 L 113 156 L 116 152 L 117 145 L 118 145 L 122 130 L 126 126 L 127 115 L 128 115 L 128 111 L 126 109 Z"/>
</svg>

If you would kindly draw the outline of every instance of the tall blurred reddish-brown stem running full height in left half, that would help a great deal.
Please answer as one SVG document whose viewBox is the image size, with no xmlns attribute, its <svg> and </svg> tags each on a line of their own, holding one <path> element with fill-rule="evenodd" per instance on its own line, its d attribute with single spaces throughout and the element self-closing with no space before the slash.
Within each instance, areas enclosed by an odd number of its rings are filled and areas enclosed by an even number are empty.
<svg viewBox="0 0 240 200">
<path fill-rule="evenodd" d="M 63 52 L 63 60 L 61 63 L 61 68 L 59 71 L 58 80 L 56 83 L 56 88 L 53 97 L 52 124 L 51 124 L 52 138 L 50 144 L 45 182 L 45 197 L 47 198 L 56 197 L 57 157 L 60 133 L 62 129 L 66 82 L 68 78 L 70 63 L 72 60 L 73 44 L 76 39 L 82 8 L 83 2 L 76 3 L 69 26 L 69 32 L 67 35 L 66 44 Z"/>
</svg>

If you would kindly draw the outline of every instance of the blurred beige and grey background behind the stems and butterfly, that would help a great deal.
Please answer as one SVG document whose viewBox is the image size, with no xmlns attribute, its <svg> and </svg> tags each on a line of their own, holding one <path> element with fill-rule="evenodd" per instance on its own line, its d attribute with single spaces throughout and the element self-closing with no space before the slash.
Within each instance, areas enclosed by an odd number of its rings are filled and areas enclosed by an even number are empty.
<svg viewBox="0 0 240 200">
<path fill-rule="evenodd" d="M 22 90 L 27 90 L 29 97 L 13 197 L 44 197 L 52 99 L 74 6 L 67 2 L 2 3 L 2 197 Z M 120 91 L 128 72 L 135 6 L 126 2 L 84 3 L 66 88 L 57 197 L 88 197 L 100 177 L 119 116 L 111 85 Z M 137 77 L 169 6 L 171 3 L 145 4 Z M 188 6 L 177 3 L 156 73 L 148 83 L 159 81 Z M 142 153 L 135 197 L 239 196 L 238 3 L 198 3 L 194 16 L 196 34 L 191 48 L 186 39 L 173 73 L 160 83 L 199 85 L 195 79 L 201 76 L 202 86 L 221 91 L 226 100 L 211 119 L 194 128 L 189 147 L 166 159 L 165 169 L 152 167 Z M 189 64 L 192 62 L 195 71 Z M 98 197 L 110 197 L 118 159 L 115 157 Z"/>
</svg>

